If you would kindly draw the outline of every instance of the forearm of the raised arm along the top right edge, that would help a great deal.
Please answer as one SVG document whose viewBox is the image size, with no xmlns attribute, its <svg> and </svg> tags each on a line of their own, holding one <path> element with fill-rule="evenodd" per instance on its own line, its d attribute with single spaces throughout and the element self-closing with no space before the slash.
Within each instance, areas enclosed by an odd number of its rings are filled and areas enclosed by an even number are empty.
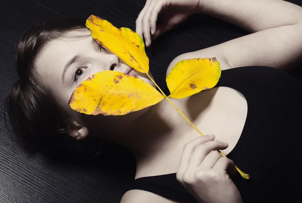
<svg viewBox="0 0 302 203">
<path fill-rule="evenodd" d="M 302 7 L 281 0 L 201 0 L 202 13 L 251 32 L 302 23 Z"/>
</svg>

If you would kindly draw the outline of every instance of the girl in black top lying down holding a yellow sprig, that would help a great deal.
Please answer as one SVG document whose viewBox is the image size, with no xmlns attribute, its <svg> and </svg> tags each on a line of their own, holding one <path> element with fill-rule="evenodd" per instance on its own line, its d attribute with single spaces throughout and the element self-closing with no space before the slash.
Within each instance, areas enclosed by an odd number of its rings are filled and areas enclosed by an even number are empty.
<svg viewBox="0 0 302 203">
<path fill-rule="evenodd" d="M 299 198 L 302 86 L 278 69 L 301 62 L 302 8 L 279 0 L 148 0 L 136 31 L 149 46 L 194 13 L 254 32 L 182 54 L 168 68 L 167 73 L 186 58 L 216 57 L 220 62 L 223 71 L 214 88 L 173 100 L 198 129 L 215 136 L 201 137 L 166 100 L 125 116 L 71 110 L 69 97 L 82 81 L 103 70 L 128 74 L 131 68 L 94 41 L 84 23 L 67 20 L 37 25 L 20 41 L 20 79 L 8 97 L 17 134 L 42 150 L 97 137 L 126 147 L 137 167 L 123 203 Z M 160 14 L 164 23 L 156 25 Z M 139 72 L 136 77 L 152 84 Z M 231 159 L 251 174 L 250 180 L 236 174 Z"/>
</svg>

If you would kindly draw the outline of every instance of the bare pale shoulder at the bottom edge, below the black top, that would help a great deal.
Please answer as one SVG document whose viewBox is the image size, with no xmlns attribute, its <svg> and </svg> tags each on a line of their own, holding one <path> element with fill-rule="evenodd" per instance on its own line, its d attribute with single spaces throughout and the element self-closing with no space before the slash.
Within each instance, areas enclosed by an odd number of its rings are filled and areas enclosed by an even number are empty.
<svg viewBox="0 0 302 203">
<path fill-rule="evenodd" d="M 122 197 L 120 203 L 180 203 L 140 189 L 128 190 Z"/>
</svg>

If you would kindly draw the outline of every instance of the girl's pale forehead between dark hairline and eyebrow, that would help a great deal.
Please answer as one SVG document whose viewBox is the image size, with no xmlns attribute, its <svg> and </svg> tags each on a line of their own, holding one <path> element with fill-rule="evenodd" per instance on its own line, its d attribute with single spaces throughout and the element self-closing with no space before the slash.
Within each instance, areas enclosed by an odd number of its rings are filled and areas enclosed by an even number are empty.
<svg viewBox="0 0 302 203">
<path fill-rule="evenodd" d="M 61 38 L 48 42 L 35 60 L 35 70 L 42 83 L 55 96 L 67 99 L 71 92 L 63 89 L 61 74 L 64 66 L 73 56 L 88 53 L 94 44 L 89 30 L 70 31 Z"/>
</svg>

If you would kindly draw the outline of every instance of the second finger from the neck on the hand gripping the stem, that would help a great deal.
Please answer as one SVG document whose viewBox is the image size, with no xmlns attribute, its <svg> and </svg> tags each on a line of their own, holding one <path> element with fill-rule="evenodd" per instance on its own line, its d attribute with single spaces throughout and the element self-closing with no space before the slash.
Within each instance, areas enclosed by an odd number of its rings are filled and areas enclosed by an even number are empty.
<svg viewBox="0 0 302 203">
<path fill-rule="evenodd" d="M 202 145 L 198 145 L 191 156 L 187 170 L 194 170 L 196 167 L 198 167 L 211 151 L 218 149 L 222 150 L 228 146 L 228 143 L 220 142 L 218 140 L 213 140 Z"/>
</svg>

